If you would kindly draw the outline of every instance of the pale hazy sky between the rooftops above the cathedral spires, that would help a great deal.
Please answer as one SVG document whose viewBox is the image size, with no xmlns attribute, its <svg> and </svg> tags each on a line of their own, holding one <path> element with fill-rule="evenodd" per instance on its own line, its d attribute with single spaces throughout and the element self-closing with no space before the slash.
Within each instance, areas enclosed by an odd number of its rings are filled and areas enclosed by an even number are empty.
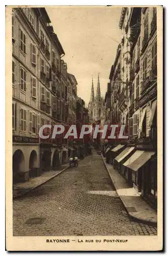
<svg viewBox="0 0 168 256">
<path fill-rule="evenodd" d="M 47 7 L 54 32 L 64 49 L 68 73 L 77 80 L 77 95 L 90 100 L 92 75 L 96 94 L 97 77 L 105 96 L 111 65 L 121 42 L 121 8 L 106 6 Z"/>
</svg>

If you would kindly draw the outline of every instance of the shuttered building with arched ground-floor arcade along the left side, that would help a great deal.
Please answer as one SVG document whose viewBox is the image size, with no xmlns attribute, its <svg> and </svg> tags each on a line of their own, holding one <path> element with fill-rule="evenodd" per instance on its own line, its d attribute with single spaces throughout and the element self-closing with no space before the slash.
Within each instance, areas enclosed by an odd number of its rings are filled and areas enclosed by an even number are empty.
<svg viewBox="0 0 168 256">
<path fill-rule="evenodd" d="M 13 182 L 57 169 L 68 160 L 67 141 L 39 138 L 44 124 L 67 123 L 67 65 L 45 8 L 13 8 Z"/>
</svg>

